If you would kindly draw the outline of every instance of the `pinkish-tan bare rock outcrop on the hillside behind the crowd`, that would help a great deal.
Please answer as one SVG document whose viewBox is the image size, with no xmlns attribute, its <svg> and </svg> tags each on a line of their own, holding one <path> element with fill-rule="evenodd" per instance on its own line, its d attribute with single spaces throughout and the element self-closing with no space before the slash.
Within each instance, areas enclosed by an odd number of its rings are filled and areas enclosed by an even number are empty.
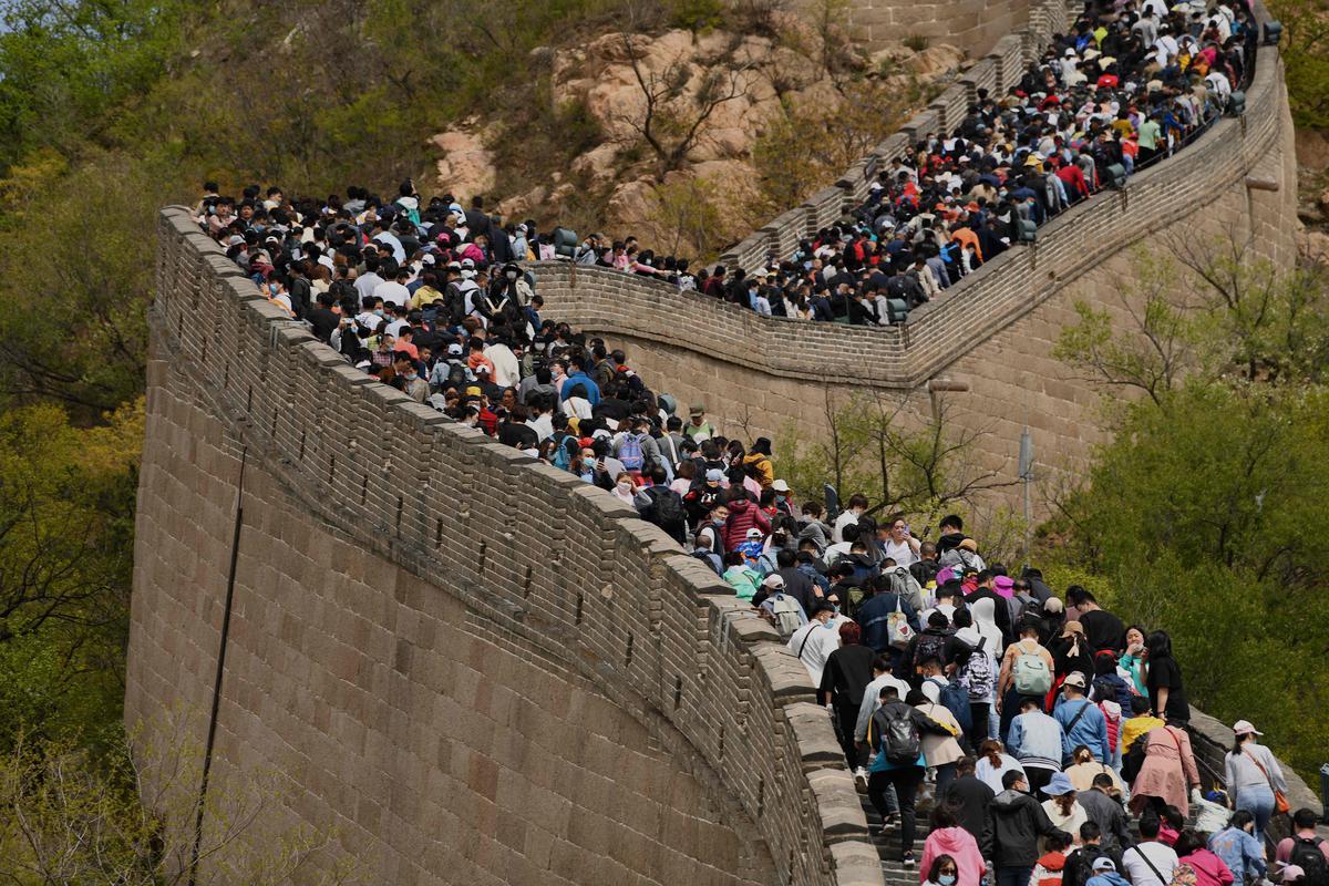
<svg viewBox="0 0 1329 886">
<path fill-rule="evenodd" d="M 486 133 L 481 121 L 465 121 L 433 139 L 443 153 L 440 186 L 459 197 L 497 191 L 505 215 L 546 219 L 558 218 L 570 195 L 594 191 L 603 195 L 599 223 L 606 232 L 631 227 L 645 239 L 658 232 L 653 230 L 658 187 L 694 179 L 724 209 L 735 226 L 732 235 L 740 236 L 754 219 L 736 210 L 751 206 L 758 194 L 752 150 L 773 121 L 805 109 L 835 113 L 845 101 L 841 89 L 855 78 L 928 84 L 953 77 L 965 60 L 960 49 L 944 44 L 922 52 L 892 46 L 872 56 L 845 45 L 833 49 L 825 52 L 821 39 L 793 19 L 781 23 L 777 40 L 674 29 L 658 36 L 606 33 L 567 48 L 541 48 L 536 56 L 549 72 L 552 102 L 585 108 L 599 126 L 599 143 L 567 157 L 562 171 L 545 183 L 504 193 L 485 147 L 496 130 Z M 650 145 L 649 118 L 666 151 L 684 145 L 676 162 L 664 162 Z M 694 126 L 695 137 L 686 138 Z"/>
</svg>

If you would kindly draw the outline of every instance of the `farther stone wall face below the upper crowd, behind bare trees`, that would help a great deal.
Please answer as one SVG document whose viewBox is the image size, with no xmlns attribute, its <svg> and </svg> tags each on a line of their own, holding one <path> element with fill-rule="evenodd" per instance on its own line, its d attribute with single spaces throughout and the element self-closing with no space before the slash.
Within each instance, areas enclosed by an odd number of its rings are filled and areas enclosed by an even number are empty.
<svg viewBox="0 0 1329 886">
<path fill-rule="evenodd" d="M 876 391 L 932 409 L 928 383 L 966 383 L 944 395 L 950 417 L 981 432 L 975 468 L 1014 484 L 1027 421 L 1035 478 L 1055 486 L 1095 444 L 1099 391 L 1053 359 L 1061 329 L 1087 302 L 1130 323 L 1138 303 L 1136 247 L 1235 235 L 1280 267 L 1294 260 L 1296 157 L 1281 60 L 1263 48 L 1248 113 L 1223 120 L 1172 159 L 1132 177 L 1038 231 L 1038 243 L 989 262 L 902 327 L 865 328 L 759 317 L 614 271 L 536 267 L 546 312 L 623 347 L 634 367 L 679 402 L 703 401 L 730 432 L 773 436 L 825 428 L 828 396 Z M 1010 487 L 1014 497 L 1017 486 Z M 1037 502 L 1035 502 L 1037 506 Z"/>
</svg>

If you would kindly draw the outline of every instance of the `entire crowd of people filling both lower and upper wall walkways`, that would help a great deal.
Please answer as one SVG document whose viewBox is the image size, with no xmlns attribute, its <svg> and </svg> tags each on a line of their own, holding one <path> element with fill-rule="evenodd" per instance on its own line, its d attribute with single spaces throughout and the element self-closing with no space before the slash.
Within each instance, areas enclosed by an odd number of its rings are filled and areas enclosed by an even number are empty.
<svg viewBox="0 0 1329 886">
<path fill-rule="evenodd" d="M 573 259 L 664 276 L 762 313 L 881 323 L 933 298 L 1055 215 L 1176 150 L 1221 110 L 1251 53 L 1251 12 L 1160 0 L 1091 3 L 1003 101 L 881 170 L 856 221 L 755 274 L 692 278 L 631 238 Z M 544 316 L 522 266 L 553 232 L 481 198 L 327 198 L 205 185 L 198 223 L 264 296 L 351 364 L 533 458 L 605 489 L 711 569 L 807 667 L 845 761 L 930 886 L 1329 886 L 1316 816 L 1267 857 L 1286 790 L 1247 721 L 1217 793 L 1185 729 L 1164 631 L 1038 570 L 989 563 L 957 515 L 936 538 L 877 522 L 863 495 L 795 503 L 771 441 L 722 434 L 647 387 L 627 356 Z M 836 505 L 836 510 L 831 507 Z M 1201 816 L 1189 824 L 1192 808 Z M 1231 810 L 1231 816 L 1228 816 Z M 1207 817 L 1205 817 L 1207 813 Z M 1199 825 L 1207 825 L 1201 829 Z M 1095 882 L 1091 882 L 1095 881 Z"/>
</svg>

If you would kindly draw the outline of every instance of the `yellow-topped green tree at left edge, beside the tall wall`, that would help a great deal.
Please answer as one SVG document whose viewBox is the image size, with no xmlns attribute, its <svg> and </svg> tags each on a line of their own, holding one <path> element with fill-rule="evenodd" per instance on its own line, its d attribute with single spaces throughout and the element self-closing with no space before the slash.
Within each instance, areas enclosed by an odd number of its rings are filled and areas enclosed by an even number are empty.
<svg viewBox="0 0 1329 886">
<path fill-rule="evenodd" d="M 0 416 L 0 752 L 118 719 L 142 432 L 141 400 L 89 429 Z"/>
</svg>

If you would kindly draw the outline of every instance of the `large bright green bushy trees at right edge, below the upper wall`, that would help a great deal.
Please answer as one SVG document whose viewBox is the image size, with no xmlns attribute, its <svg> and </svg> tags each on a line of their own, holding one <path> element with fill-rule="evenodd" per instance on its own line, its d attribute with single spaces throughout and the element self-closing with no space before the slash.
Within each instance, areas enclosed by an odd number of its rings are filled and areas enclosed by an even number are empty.
<svg viewBox="0 0 1329 886">
<path fill-rule="evenodd" d="M 1059 502 L 1049 578 L 1168 630 L 1192 703 L 1259 721 L 1309 773 L 1329 725 L 1329 385 L 1314 356 L 1329 288 L 1228 247 L 1175 259 L 1163 279 L 1191 296 L 1136 299 L 1126 328 L 1082 307 L 1059 343 L 1108 391 L 1148 396 L 1114 406 L 1115 440 Z"/>
</svg>

